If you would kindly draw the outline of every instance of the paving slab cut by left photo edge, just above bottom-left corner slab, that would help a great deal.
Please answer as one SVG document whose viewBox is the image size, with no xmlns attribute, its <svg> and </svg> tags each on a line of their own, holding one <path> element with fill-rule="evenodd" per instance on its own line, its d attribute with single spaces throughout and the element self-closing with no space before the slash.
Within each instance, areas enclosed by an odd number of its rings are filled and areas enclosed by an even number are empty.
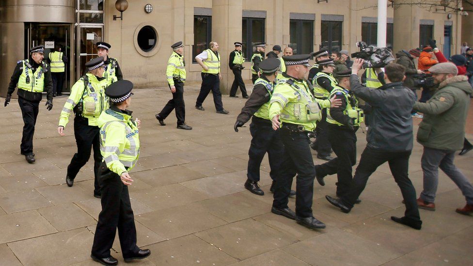
<svg viewBox="0 0 473 266">
<path fill-rule="evenodd" d="M 35 210 L 1 215 L 0 224 L 0 243 L 58 232 Z"/>
</svg>

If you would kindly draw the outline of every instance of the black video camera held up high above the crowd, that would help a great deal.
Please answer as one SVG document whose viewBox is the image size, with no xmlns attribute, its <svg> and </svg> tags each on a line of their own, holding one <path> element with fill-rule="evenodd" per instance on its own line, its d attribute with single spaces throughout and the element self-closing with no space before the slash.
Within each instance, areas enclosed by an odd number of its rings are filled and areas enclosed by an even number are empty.
<svg viewBox="0 0 473 266">
<path fill-rule="evenodd" d="M 380 68 L 394 61 L 394 56 L 387 47 L 368 46 L 365 42 L 357 42 L 356 47 L 360 51 L 352 53 L 351 57 L 363 59 L 363 68 Z"/>
</svg>

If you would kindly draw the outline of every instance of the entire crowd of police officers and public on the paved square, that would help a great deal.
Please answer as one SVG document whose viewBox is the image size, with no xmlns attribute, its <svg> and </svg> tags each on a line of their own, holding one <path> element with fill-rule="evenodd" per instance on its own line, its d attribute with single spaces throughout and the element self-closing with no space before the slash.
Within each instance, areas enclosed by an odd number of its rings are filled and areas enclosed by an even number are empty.
<svg viewBox="0 0 473 266">
<path fill-rule="evenodd" d="M 363 70 L 364 60 L 351 60 L 347 50 L 293 55 L 291 47 L 283 51 L 281 46 L 275 45 L 265 54 L 266 44 L 257 43 L 251 57 L 253 88 L 249 94 L 241 76 L 246 60 L 241 51 L 242 43 L 234 45 L 235 50 L 229 54 L 229 67 L 235 75 L 230 97 L 237 97 L 240 88 L 242 97 L 248 99 L 236 118 L 235 131 L 252 120 L 244 187 L 254 194 L 264 195 L 258 184 L 259 170 L 268 153 L 272 179 L 269 190 L 274 193 L 272 213 L 294 219 L 311 229 L 324 229 L 326 225 L 313 215 L 314 181 L 325 186 L 325 177 L 337 174 L 336 197 L 327 195 L 326 199 L 349 213 L 355 204 L 362 203 L 360 195 L 370 175 L 388 162 L 406 206 L 405 215 L 391 217 L 393 221 L 418 230 L 422 228 L 418 208 L 435 210 L 438 168 L 465 196 L 466 205 L 456 211 L 473 214 L 472 184 L 454 164 L 456 151 L 461 150 L 460 155 L 464 155 L 473 148 L 465 138 L 473 94 L 473 48 L 465 44 L 464 55 L 446 59 L 432 40 L 426 47 L 398 51 L 396 63 Z M 109 57 L 111 45 L 98 42 L 96 48 L 98 57 L 85 63 L 87 73 L 71 88 L 57 131 L 64 136 L 69 118 L 74 114 L 77 153 L 67 167 L 67 186 L 74 185 L 79 170 L 94 151 L 94 196 L 101 199 L 102 211 L 91 257 L 101 264 L 115 265 L 118 261 L 110 255 L 110 249 L 117 228 L 125 261 L 150 255 L 150 250 L 141 250 L 136 245 L 127 189 L 133 182 L 129 171 L 140 154 L 141 122 L 133 120 L 132 112 L 127 110 L 133 83 L 123 80 L 118 60 Z M 164 120 L 175 110 L 177 129 L 191 130 L 185 123 L 184 45 L 177 42 L 171 48 L 166 78 L 172 99 L 156 114 L 156 119 L 159 125 L 165 126 Z M 212 91 L 216 112 L 228 114 L 221 100 L 218 50 L 218 43 L 210 42 L 209 48 L 195 57 L 202 67 L 202 85 L 195 109 L 205 110 L 203 103 Z M 58 87 L 62 78 L 57 74 L 64 68 L 61 49 L 56 48 L 49 54 L 50 65 L 43 62 L 44 53 L 44 47 L 33 47 L 28 59 L 17 62 L 5 99 L 6 107 L 18 88 L 18 103 L 25 124 L 20 151 L 28 163 L 35 162 L 32 141 L 42 93 L 47 93 L 47 110 L 53 107 L 53 96 L 62 93 Z M 313 65 L 309 63 L 310 58 L 315 59 Z M 417 66 L 414 59 L 418 59 Z M 422 94 L 417 100 L 419 89 Z M 424 187 L 418 198 L 408 174 L 413 117 L 422 118 L 416 139 L 424 146 L 421 159 Z M 357 163 L 355 133 L 364 126 L 363 122 L 367 127 L 367 145 L 353 175 L 352 168 Z M 327 162 L 314 165 L 311 148 L 317 151 L 317 158 Z M 332 150 L 336 157 L 331 156 Z M 291 189 L 294 177 L 296 188 Z M 292 196 L 296 197 L 294 211 L 288 207 L 288 197 Z"/>
</svg>

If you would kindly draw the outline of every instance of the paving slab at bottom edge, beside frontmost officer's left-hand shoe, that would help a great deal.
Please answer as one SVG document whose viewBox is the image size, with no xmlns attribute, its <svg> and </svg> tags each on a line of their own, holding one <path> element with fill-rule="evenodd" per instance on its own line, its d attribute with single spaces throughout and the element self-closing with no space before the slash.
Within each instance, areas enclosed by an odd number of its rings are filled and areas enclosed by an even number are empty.
<svg viewBox="0 0 473 266">
<path fill-rule="evenodd" d="M 71 265 L 90 256 L 92 235 L 86 228 L 25 239 L 8 246 L 23 265 Z"/>
</svg>

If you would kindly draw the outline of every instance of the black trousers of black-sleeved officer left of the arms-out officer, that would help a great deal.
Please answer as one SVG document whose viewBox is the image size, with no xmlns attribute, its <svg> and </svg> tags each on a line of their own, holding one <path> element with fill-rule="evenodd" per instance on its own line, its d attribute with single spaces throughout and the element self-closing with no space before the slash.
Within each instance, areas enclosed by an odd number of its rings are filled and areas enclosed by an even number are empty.
<svg viewBox="0 0 473 266">
<path fill-rule="evenodd" d="M 272 128 L 269 120 L 253 116 L 250 124 L 252 141 L 248 151 L 250 158 L 248 159 L 247 176 L 249 180 L 259 181 L 259 168 L 266 153 L 268 153 L 269 167 L 271 168 L 269 176 L 272 180 L 276 180 L 284 155 L 284 144 L 279 131 Z"/>
</svg>

